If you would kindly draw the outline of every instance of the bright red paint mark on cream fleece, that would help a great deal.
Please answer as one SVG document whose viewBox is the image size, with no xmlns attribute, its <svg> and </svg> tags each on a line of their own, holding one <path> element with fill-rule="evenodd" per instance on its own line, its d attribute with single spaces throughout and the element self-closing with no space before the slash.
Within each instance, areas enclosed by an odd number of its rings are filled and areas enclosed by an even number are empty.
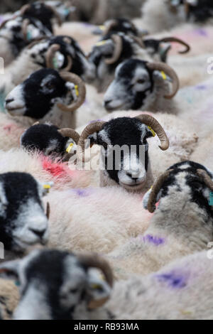
<svg viewBox="0 0 213 334">
<path fill-rule="evenodd" d="M 48 173 L 53 175 L 55 178 L 67 178 L 74 173 L 73 171 L 70 171 L 65 163 L 54 163 L 50 160 L 50 158 L 47 158 L 46 156 L 43 156 L 42 164 L 43 169 L 45 169 L 45 171 L 48 171 Z"/>
</svg>

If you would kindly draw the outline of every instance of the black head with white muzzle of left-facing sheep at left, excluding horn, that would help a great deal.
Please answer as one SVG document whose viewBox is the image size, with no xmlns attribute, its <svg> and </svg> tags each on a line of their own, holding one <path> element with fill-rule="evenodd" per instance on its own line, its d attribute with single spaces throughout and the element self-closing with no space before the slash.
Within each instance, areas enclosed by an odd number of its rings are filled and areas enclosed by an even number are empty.
<svg viewBox="0 0 213 334">
<path fill-rule="evenodd" d="M 70 104 L 77 99 L 75 85 L 66 82 L 51 69 L 34 72 L 6 97 L 5 107 L 12 116 L 42 119 L 58 109 L 57 104 Z"/>
</svg>

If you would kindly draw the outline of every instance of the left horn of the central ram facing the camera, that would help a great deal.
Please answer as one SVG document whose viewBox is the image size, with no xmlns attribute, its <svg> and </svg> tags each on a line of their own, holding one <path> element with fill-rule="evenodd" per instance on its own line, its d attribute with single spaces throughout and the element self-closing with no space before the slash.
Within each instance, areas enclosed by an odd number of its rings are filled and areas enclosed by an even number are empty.
<svg viewBox="0 0 213 334">
<path fill-rule="evenodd" d="M 84 161 L 85 140 L 90 134 L 94 134 L 94 132 L 100 131 L 105 123 L 106 122 L 99 122 L 99 121 L 91 123 L 85 127 L 84 131 L 82 131 L 77 146 L 77 156 L 80 159 L 82 158 L 82 161 Z"/>
</svg>

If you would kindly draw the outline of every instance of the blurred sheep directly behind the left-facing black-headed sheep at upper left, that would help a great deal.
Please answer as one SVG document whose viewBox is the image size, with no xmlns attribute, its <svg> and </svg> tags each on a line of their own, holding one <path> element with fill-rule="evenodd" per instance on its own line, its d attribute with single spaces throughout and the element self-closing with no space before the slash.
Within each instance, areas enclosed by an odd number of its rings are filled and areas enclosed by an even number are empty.
<svg viewBox="0 0 213 334">
<path fill-rule="evenodd" d="M 31 43 L 2 75 L 5 94 L 33 72 L 42 68 L 73 72 L 84 81 L 94 80 L 94 64 L 89 63 L 77 42 L 68 36 L 53 36 Z M 2 92 L 1 92 L 2 94 Z"/>
</svg>

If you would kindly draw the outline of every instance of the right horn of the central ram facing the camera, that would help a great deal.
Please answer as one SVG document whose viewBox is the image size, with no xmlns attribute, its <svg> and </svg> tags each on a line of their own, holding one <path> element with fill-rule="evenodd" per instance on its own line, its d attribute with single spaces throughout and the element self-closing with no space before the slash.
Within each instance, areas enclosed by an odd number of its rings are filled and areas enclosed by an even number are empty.
<svg viewBox="0 0 213 334">
<path fill-rule="evenodd" d="M 160 149 L 162 151 L 165 151 L 170 146 L 170 141 L 168 139 L 168 136 L 165 134 L 165 131 L 163 130 L 163 126 L 160 125 L 160 123 L 148 114 L 141 114 L 136 119 L 139 119 L 141 123 L 146 124 L 147 126 L 151 126 L 151 128 L 156 132 L 158 135 L 158 138 L 160 139 Z"/>
</svg>

